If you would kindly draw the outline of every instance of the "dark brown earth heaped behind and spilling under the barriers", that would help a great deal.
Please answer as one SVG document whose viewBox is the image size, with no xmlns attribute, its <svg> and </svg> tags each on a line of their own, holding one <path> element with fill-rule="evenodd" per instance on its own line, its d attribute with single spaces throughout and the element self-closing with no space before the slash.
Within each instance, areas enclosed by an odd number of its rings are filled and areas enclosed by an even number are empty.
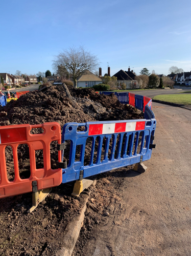
<svg viewBox="0 0 191 256">
<path fill-rule="evenodd" d="M 133 108 L 117 101 L 114 94 L 99 95 L 93 89 L 86 92 L 83 89 L 69 88 L 73 100 L 70 100 L 62 87 L 52 86 L 37 92 L 22 95 L 16 102 L 11 101 L 6 107 L 0 107 L 0 125 L 13 124 L 42 124 L 44 122 L 58 122 L 61 129 L 65 123 L 106 120 L 140 119 L 142 114 L 136 113 Z M 39 129 L 32 133 L 43 132 Z M 89 160 L 91 142 L 87 143 L 85 164 Z M 97 147 L 98 145 L 96 145 Z M 64 160 L 68 161 L 70 144 L 67 142 L 64 150 Z M 103 145 L 104 150 L 104 145 Z M 77 150 L 76 157 L 80 156 Z M 96 159 L 96 149 L 94 152 Z M 30 176 L 29 149 L 26 144 L 19 145 L 19 174 L 21 179 Z M 14 161 L 12 149 L 6 148 L 7 173 L 10 181 L 14 180 Z M 56 142 L 51 145 L 51 165 L 57 168 Z M 37 168 L 43 165 L 43 153 L 36 154 Z M 105 174 L 99 175 L 100 181 Z M 98 182 L 99 184 L 99 182 Z M 106 185 L 103 181 L 101 186 Z M 0 200 L 0 254 L 1 255 L 54 255 L 61 248 L 63 231 L 66 224 L 74 221 L 80 212 L 83 203 L 83 193 L 79 199 L 73 199 L 70 194 L 74 183 L 61 184 L 53 188 L 47 198 L 40 203 L 37 209 L 28 214 L 32 205 L 32 194 L 12 196 Z M 102 189 L 102 188 L 99 188 Z M 101 190 L 100 190 L 101 191 Z M 110 195 L 109 195 L 110 196 Z M 91 208 L 91 205 L 89 205 Z M 92 206 L 99 209 L 99 214 L 105 210 L 105 202 Z M 97 211 L 97 210 L 96 210 Z"/>
</svg>

